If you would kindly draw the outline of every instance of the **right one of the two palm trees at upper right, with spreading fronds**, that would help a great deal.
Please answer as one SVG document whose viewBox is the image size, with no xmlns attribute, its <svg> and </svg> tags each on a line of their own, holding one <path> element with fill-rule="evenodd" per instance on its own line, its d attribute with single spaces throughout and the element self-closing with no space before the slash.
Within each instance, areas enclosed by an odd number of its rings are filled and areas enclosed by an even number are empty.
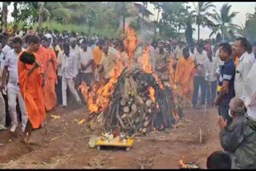
<svg viewBox="0 0 256 171">
<path fill-rule="evenodd" d="M 238 12 L 230 12 L 231 5 L 224 4 L 218 13 L 214 10 L 215 15 L 213 16 L 214 20 L 217 22 L 213 26 L 213 32 L 210 34 L 216 34 L 219 31 L 221 32 L 222 40 L 225 38 L 231 38 L 230 30 L 238 30 L 238 25 L 232 23 L 232 19 L 238 14 Z"/>
</svg>

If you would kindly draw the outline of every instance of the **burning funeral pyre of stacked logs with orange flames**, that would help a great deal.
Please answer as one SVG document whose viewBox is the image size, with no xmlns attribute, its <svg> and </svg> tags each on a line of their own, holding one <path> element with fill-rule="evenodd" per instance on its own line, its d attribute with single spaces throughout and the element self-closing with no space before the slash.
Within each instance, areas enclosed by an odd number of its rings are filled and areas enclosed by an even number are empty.
<svg viewBox="0 0 256 171">
<path fill-rule="evenodd" d="M 130 65 L 138 40 L 134 30 L 127 29 L 124 40 Z M 127 134 L 170 129 L 182 116 L 172 86 L 162 85 L 150 65 L 149 48 L 144 48 L 136 66 L 125 66 L 118 60 L 110 81 L 97 89 L 82 83 L 80 89 L 90 110 L 90 120 L 103 113 L 106 131 Z M 171 75 L 171 74 L 170 74 Z"/>
</svg>

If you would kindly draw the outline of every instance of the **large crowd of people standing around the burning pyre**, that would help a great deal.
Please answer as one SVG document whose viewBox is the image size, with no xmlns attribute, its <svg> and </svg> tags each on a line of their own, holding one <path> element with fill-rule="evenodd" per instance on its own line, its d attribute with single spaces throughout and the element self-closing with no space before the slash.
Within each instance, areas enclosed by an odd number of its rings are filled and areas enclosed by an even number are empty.
<svg viewBox="0 0 256 171">
<path fill-rule="evenodd" d="M 68 97 L 82 105 L 82 82 L 99 88 L 110 81 L 117 60 L 124 66 L 129 63 L 126 47 L 117 39 L 59 34 L 47 28 L 42 33 L 31 28 L 18 31 L 17 26 L 0 39 L 0 130 L 10 126 L 14 132 L 20 119 L 25 142 L 32 129 L 43 126 L 46 112 L 66 107 Z M 153 73 L 162 82 L 172 82 L 195 109 L 218 106 L 222 148 L 234 157 L 237 168 L 255 168 L 255 47 L 246 38 L 189 46 L 175 40 L 141 41 L 133 65 L 149 48 Z"/>
</svg>

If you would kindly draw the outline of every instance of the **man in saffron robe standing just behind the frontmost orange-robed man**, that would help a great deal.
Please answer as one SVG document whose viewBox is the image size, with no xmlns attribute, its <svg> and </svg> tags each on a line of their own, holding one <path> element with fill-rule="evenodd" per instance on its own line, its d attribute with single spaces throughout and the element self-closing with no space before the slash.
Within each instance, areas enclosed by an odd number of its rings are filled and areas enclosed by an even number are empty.
<svg viewBox="0 0 256 171">
<path fill-rule="evenodd" d="M 49 112 L 54 109 L 54 106 L 57 104 L 57 96 L 55 93 L 55 84 L 57 84 L 57 57 L 54 50 L 49 48 L 49 43 L 47 42 L 46 37 L 41 39 L 41 44 L 46 49 L 46 56 L 44 59 L 46 70 L 42 79 L 42 92 L 46 112 Z"/>
</svg>

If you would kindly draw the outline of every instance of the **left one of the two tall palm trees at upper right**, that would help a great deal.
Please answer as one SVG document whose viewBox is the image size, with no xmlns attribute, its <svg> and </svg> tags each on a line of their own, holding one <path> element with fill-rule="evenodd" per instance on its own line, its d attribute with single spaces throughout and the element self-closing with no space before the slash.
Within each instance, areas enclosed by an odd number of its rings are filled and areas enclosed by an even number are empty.
<svg viewBox="0 0 256 171">
<path fill-rule="evenodd" d="M 210 21 L 210 17 L 213 16 L 210 12 L 208 12 L 211 8 L 215 7 L 212 2 L 198 2 L 198 6 L 195 6 L 191 13 L 196 14 L 196 24 L 198 25 L 198 42 L 200 40 L 200 26 L 208 26 L 211 27 L 214 25 L 212 21 Z"/>
</svg>

